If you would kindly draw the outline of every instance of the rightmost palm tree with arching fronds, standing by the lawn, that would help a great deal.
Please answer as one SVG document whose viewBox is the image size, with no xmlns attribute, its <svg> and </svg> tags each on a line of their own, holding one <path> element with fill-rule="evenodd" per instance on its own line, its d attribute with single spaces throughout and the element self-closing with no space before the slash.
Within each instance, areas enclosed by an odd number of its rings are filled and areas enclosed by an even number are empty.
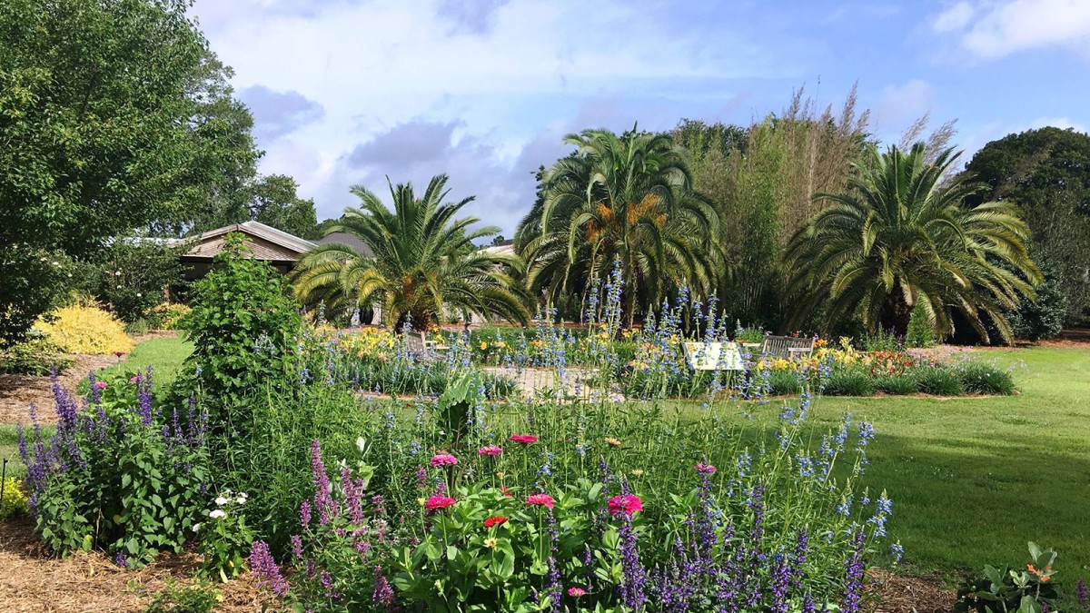
<svg viewBox="0 0 1090 613">
<path fill-rule="evenodd" d="M 982 185 L 942 180 L 959 155 L 945 149 L 928 163 L 923 143 L 908 154 L 871 147 L 846 193 L 816 194 L 832 204 L 785 251 L 788 293 L 798 298 L 788 325 L 824 305 L 826 327 L 860 313 L 870 330 L 904 336 L 919 305 L 941 335 L 959 312 L 986 340 L 986 314 L 1009 341 L 1005 311 L 1041 281 L 1029 228 L 1010 203 L 965 206 Z"/>
</svg>

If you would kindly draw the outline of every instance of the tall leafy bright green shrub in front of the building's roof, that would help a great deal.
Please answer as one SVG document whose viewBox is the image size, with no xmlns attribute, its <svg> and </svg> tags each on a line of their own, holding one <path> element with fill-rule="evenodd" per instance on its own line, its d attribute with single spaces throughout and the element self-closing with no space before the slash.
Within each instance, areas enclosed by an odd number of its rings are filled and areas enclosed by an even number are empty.
<svg viewBox="0 0 1090 613">
<path fill-rule="evenodd" d="M 301 326 L 281 277 L 250 255 L 241 235 L 228 235 L 215 267 L 195 284 L 182 322 L 194 347 L 179 380 L 182 394 L 198 389 L 217 430 L 228 419 L 220 409 L 283 380 Z"/>
</svg>

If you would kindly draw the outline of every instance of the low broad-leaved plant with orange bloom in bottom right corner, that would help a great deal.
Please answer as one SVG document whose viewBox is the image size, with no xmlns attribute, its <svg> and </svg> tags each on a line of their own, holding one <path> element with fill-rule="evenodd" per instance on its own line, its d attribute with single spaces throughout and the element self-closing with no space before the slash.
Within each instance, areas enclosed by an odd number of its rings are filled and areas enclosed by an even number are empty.
<svg viewBox="0 0 1090 613">
<path fill-rule="evenodd" d="M 1037 543 L 1029 543 L 1030 563 L 1026 569 L 984 566 L 984 576 L 967 579 L 957 590 L 955 613 L 1042 613 L 1056 611 L 1055 581 L 1051 581 L 1056 570 L 1052 563 L 1056 552 L 1041 550 Z"/>
</svg>

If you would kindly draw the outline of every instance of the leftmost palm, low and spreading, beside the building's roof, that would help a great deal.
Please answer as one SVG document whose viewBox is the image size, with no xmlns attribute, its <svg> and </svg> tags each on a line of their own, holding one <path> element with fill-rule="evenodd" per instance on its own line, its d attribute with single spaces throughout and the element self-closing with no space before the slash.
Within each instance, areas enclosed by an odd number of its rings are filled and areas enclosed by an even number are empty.
<svg viewBox="0 0 1090 613">
<path fill-rule="evenodd" d="M 508 273 L 521 268 L 521 261 L 473 244 L 499 229 L 471 230 L 476 217 L 456 219 L 473 197 L 444 203 L 447 179 L 446 175 L 434 177 L 417 199 L 411 183 L 393 187 L 387 178 L 392 212 L 374 192 L 353 187 L 362 206 L 347 208 L 326 233 L 349 232 L 374 255 L 341 243 L 314 249 L 292 273 L 296 295 L 304 303 L 330 306 L 377 302 L 385 323 L 398 330 L 410 316 L 412 325 L 423 329 L 447 308 L 526 323 L 529 298 Z"/>
</svg>

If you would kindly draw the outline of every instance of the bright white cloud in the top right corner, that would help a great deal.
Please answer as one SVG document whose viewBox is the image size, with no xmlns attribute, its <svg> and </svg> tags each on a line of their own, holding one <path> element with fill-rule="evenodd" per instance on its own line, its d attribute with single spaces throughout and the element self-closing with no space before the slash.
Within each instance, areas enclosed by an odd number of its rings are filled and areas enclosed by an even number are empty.
<svg viewBox="0 0 1090 613">
<path fill-rule="evenodd" d="M 979 59 L 996 59 L 1029 49 L 1067 47 L 1090 51 L 1090 1 L 961 1 L 938 13 L 932 31 L 955 35 Z"/>
</svg>

